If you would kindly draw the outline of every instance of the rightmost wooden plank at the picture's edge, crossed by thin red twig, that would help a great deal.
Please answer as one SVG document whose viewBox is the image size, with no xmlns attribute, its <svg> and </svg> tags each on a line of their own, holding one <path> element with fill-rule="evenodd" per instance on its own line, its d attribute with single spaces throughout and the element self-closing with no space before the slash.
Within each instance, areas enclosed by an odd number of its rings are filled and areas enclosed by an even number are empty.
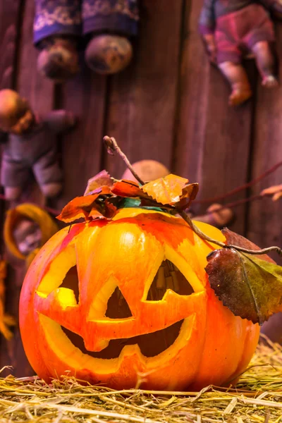
<svg viewBox="0 0 282 423">
<path fill-rule="evenodd" d="M 280 58 L 280 85 L 274 90 L 261 86 L 259 78 L 255 109 L 254 142 L 252 146 L 252 178 L 262 174 L 282 161 L 282 22 L 276 23 L 276 48 Z M 282 183 L 282 168 L 256 185 L 252 195 L 271 185 Z M 261 247 L 282 244 L 282 202 L 272 202 L 266 197 L 250 204 L 247 220 L 247 236 Z M 277 259 L 277 256 L 275 257 Z M 282 261 L 281 261 L 282 263 Z"/>
</svg>

